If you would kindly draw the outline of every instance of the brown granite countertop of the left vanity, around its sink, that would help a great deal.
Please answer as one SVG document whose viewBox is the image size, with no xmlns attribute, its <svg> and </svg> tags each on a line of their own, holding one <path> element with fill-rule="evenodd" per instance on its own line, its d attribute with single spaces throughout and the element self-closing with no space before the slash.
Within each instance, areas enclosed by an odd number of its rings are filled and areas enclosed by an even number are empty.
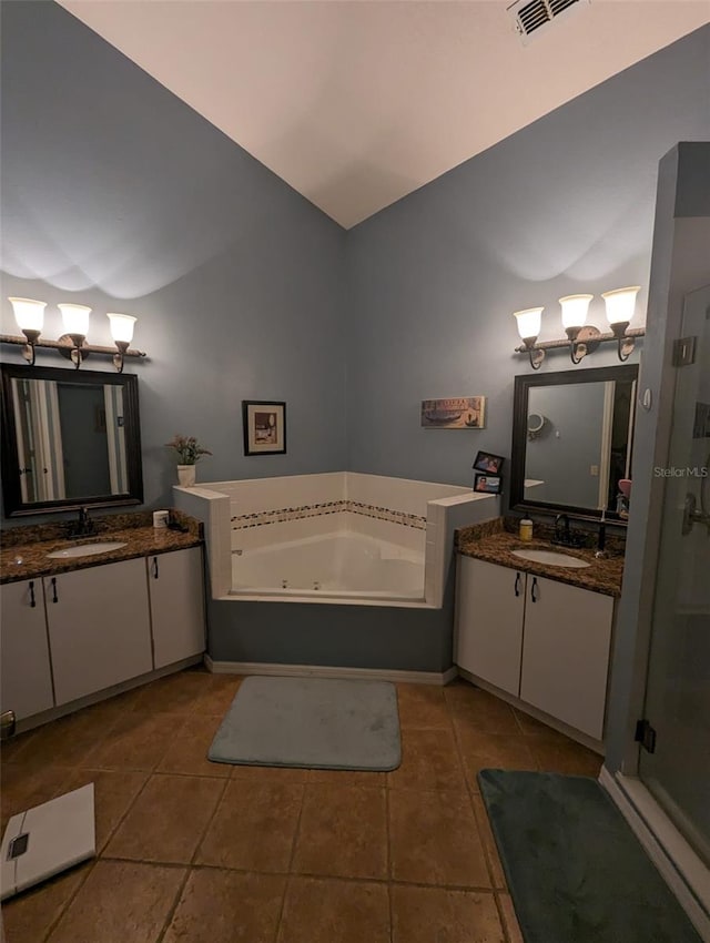
<svg viewBox="0 0 710 943">
<path fill-rule="evenodd" d="M 69 537 L 67 524 L 16 527 L 6 530 L 0 550 L 0 584 L 57 576 L 71 570 L 114 564 L 152 554 L 168 554 L 203 544 L 202 524 L 180 511 L 171 511 L 176 528 L 153 527 L 152 514 L 120 514 L 92 519 L 95 533 Z M 104 540 L 125 543 L 125 547 L 87 557 L 51 559 L 47 555 L 77 544 Z"/>
</svg>

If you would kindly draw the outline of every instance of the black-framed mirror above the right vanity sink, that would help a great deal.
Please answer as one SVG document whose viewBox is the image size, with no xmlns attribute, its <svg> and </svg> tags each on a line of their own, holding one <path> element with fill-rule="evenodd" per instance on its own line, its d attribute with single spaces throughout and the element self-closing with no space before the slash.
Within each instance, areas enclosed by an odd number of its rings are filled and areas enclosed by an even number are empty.
<svg viewBox="0 0 710 943">
<path fill-rule="evenodd" d="M 516 376 L 511 509 L 626 524 L 637 379 L 636 364 Z"/>
</svg>

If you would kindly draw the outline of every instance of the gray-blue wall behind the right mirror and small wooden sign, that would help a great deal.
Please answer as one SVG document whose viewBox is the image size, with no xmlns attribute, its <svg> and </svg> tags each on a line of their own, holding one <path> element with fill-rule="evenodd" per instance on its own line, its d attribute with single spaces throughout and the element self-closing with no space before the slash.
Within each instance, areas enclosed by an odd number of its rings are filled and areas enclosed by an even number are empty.
<svg viewBox="0 0 710 943">
<path fill-rule="evenodd" d="M 645 310 L 658 163 L 710 136 L 709 62 L 706 28 L 348 233 L 348 468 L 469 484 L 477 449 L 510 455 L 514 376 L 530 372 L 514 311 L 545 305 L 542 339 L 564 336 L 562 295 L 594 293 L 599 327 L 600 292 L 642 285 Z M 607 345 L 578 369 L 613 363 Z M 542 371 L 570 366 L 550 352 Z M 422 399 L 475 394 L 485 430 L 419 426 Z"/>
</svg>

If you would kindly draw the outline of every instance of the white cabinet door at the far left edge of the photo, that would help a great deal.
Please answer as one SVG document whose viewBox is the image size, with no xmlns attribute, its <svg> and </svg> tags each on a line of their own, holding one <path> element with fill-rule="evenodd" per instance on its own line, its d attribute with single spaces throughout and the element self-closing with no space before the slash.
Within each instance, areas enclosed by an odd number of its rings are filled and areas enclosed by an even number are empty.
<svg viewBox="0 0 710 943">
<path fill-rule="evenodd" d="M 42 580 L 0 586 L 0 707 L 17 720 L 54 707 Z"/>
</svg>

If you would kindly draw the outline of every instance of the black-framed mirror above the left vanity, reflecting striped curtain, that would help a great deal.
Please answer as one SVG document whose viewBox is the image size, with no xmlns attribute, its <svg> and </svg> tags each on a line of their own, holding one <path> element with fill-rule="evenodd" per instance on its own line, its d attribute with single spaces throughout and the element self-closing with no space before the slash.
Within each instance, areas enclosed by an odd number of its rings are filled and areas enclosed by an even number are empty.
<svg viewBox="0 0 710 943">
<path fill-rule="evenodd" d="M 7 517 L 142 503 L 136 376 L 1 367 Z"/>
</svg>

